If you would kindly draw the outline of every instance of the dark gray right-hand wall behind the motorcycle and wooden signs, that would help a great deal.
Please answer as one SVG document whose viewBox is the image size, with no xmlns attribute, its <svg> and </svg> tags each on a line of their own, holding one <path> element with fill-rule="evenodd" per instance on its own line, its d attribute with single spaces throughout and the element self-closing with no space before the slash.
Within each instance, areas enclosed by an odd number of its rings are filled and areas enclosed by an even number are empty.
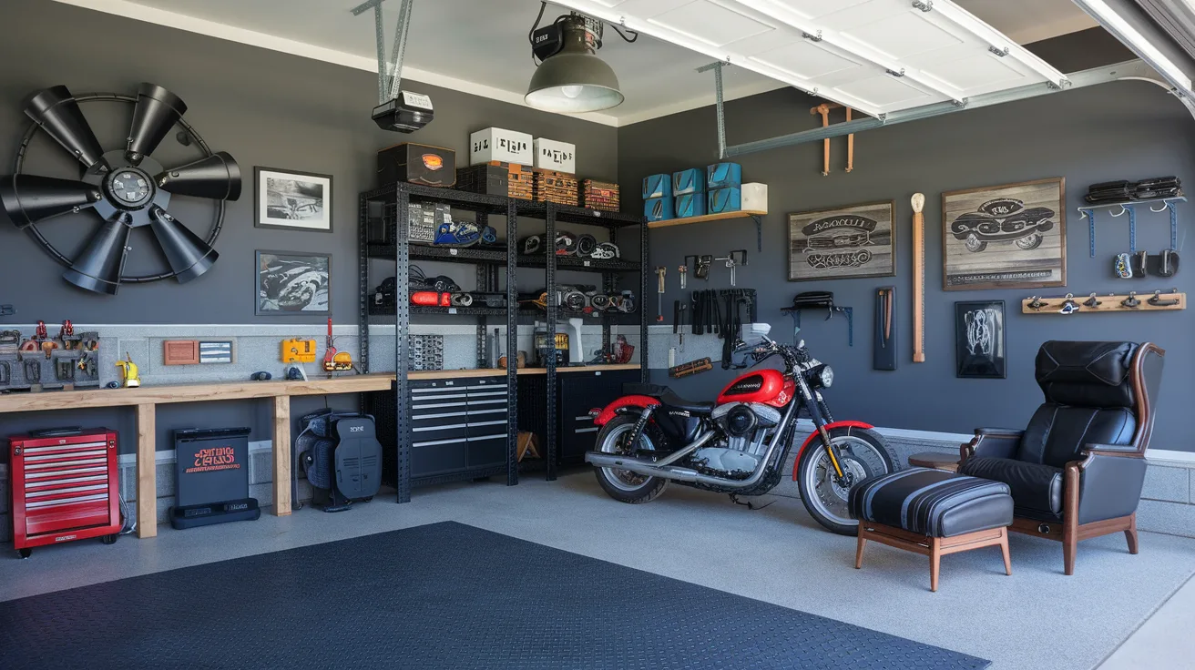
<svg viewBox="0 0 1195 670">
<path fill-rule="evenodd" d="M 1078 33 L 1035 45 L 1064 72 L 1127 60 L 1129 55 L 1098 31 Z M 815 100 L 795 90 L 782 90 L 734 100 L 727 105 L 728 141 L 746 142 L 811 128 L 808 112 Z M 968 432 L 978 425 L 1024 426 L 1041 402 L 1032 379 L 1032 358 L 1047 339 L 1152 340 L 1168 351 L 1158 405 L 1153 447 L 1195 450 L 1189 437 L 1188 407 L 1195 398 L 1190 333 L 1195 312 L 1123 315 L 1023 315 L 1025 290 L 943 291 L 942 213 L 945 190 L 998 185 L 1047 177 L 1066 178 L 1067 288 L 1041 289 L 1043 295 L 1087 294 L 1156 288 L 1190 290 L 1191 270 L 1171 279 L 1126 282 L 1111 275 L 1111 257 L 1127 251 L 1126 220 L 1104 216 L 1097 226 L 1097 257 L 1087 257 L 1087 230 L 1076 207 L 1089 184 L 1109 179 L 1140 179 L 1164 174 L 1193 177 L 1191 142 L 1195 123 L 1182 105 L 1146 82 L 1117 82 L 1068 91 L 1044 98 L 962 111 L 856 135 L 854 172 L 842 172 L 845 139 L 833 141 L 833 172 L 821 176 L 821 143 L 742 156 L 743 178 L 768 184 L 770 211 L 764 221 L 764 251 L 755 253 L 755 229 L 749 220 L 662 228 L 652 232 L 652 266 L 667 265 L 668 320 L 672 301 L 681 293 L 676 268 L 687 254 L 724 256 L 748 247 L 750 265 L 737 272 L 740 287 L 759 291 L 760 319 L 773 324 L 784 342 L 792 338 L 788 316 L 779 313 L 798 291 L 834 291 L 839 305 L 854 308 L 853 348 L 846 343 L 840 318 L 823 322 L 805 313 L 802 337 L 813 354 L 831 363 L 838 376 L 829 402 L 838 418 L 858 418 L 876 425 L 932 431 Z M 637 184 L 651 173 L 715 162 L 713 107 L 703 107 L 619 129 L 619 176 L 626 205 L 638 202 Z M 926 350 L 927 362 L 912 363 L 912 245 L 909 196 L 926 195 Z M 891 199 L 896 203 L 897 276 L 833 282 L 785 281 L 785 213 Z M 1195 211 L 1183 205 L 1187 222 Z M 1168 245 L 1165 214 L 1139 216 L 1138 244 L 1157 253 Z M 1179 239 L 1188 235 L 1183 223 Z M 725 269 L 715 266 L 706 285 L 724 288 Z M 871 369 L 874 291 L 896 287 L 896 371 Z M 686 291 L 687 293 L 687 291 Z M 955 377 L 954 302 L 1004 300 L 1007 314 L 1009 374 L 1006 380 Z M 650 296 L 655 309 L 655 296 Z M 682 356 L 680 359 L 687 359 Z M 678 391 L 710 398 L 733 374 L 721 368 L 686 380 L 667 380 L 652 370 L 654 381 L 670 381 Z"/>
</svg>

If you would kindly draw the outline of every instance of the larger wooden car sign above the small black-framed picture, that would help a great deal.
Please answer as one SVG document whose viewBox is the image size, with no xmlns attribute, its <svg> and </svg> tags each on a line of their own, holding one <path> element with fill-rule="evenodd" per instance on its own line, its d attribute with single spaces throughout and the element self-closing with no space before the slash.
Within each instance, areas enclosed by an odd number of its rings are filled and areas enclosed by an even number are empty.
<svg viewBox="0 0 1195 670">
<path fill-rule="evenodd" d="M 942 193 L 942 288 L 1066 285 L 1061 177 Z"/>
</svg>

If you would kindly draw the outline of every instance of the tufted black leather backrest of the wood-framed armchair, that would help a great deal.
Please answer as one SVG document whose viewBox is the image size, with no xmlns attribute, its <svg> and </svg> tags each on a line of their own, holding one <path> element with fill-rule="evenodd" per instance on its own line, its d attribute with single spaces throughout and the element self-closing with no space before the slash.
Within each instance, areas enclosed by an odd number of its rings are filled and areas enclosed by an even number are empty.
<svg viewBox="0 0 1195 670">
<path fill-rule="evenodd" d="M 1165 351 L 1133 342 L 1059 342 L 1037 351 L 1046 401 L 1034 413 L 1017 459 L 1064 467 L 1087 444 L 1132 445 L 1144 453 Z"/>
</svg>

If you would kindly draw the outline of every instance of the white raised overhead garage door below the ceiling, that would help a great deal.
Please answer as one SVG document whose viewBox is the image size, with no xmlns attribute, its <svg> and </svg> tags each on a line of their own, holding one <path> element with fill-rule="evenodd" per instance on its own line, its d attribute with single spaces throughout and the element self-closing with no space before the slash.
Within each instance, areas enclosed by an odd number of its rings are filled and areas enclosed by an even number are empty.
<svg viewBox="0 0 1195 670">
<path fill-rule="evenodd" d="M 553 1 L 872 116 L 1065 80 L 950 0 Z"/>
</svg>

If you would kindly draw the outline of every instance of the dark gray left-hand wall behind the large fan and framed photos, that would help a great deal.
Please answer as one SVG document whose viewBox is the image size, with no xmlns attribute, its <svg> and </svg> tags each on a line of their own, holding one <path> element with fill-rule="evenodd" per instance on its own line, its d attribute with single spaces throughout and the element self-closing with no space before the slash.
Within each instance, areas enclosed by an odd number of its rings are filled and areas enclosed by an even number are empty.
<svg viewBox="0 0 1195 670">
<path fill-rule="evenodd" d="M 115 297 L 81 291 L 61 278 L 62 268 L 32 240 L 0 221 L 0 303 L 12 303 L 18 309 L 12 316 L 0 318 L 0 327 L 37 319 L 48 324 L 72 319 L 78 325 L 293 322 L 318 327 L 320 318 L 253 316 L 257 248 L 330 252 L 333 318 L 337 324 L 355 325 L 356 196 L 375 185 L 375 152 L 403 141 L 448 147 L 467 162 L 470 133 L 497 125 L 572 142 L 577 146 L 577 168 L 582 176 L 617 179 L 614 128 L 410 82 L 410 88 L 431 96 L 436 118 L 412 135 L 385 133 L 369 119 L 369 110 L 376 104 L 373 73 L 43 0 L 0 2 L 0 25 L 5 26 L 0 39 L 0 159 L 5 167 L 0 172 L 8 171 L 8 161 L 27 123 L 22 110 L 31 92 L 65 84 L 76 93 L 134 93 L 139 82 L 153 81 L 186 102 L 190 109 L 185 118 L 213 150 L 232 153 L 245 176 L 244 195 L 229 204 L 223 232 L 215 245 L 220 260 L 207 275 L 182 285 L 173 281 L 127 285 Z M 127 105 L 88 104 L 84 111 L 102 141 L 116 139 L 123 146 L 129 118 Z M 33 149 L 44 149 L 41 155 L 48 160 L 47 166 L 69 168 L 61 149 L 43 141 Z M 172 137 L 163 143 L 163 150 L 173 156 L 194 155 L 186 154 Z M 255 165 L 332 174 L 335 233 L 255 228 Z M 210 216 L 206 203 L 190 203 L 192 207 L 188 208 L 182 198 L 176 202 L 176 214 L 184 221 L 202 222 Z M 85 233 L 90 226 L 63 219 L 45 229 L 54 239 L 68 242 L 69 251 L 85 239 L 80 229 Z M 203 225 L 192 227 L 206 229 Z M 139 263 L 142 256 L 155 260 L 153 242 L 148 236 L 142 238 L 142 233 L 136 232 L 133 238 L 130 263 Z M 425 269 L 429 273 L 445 271 L 431 264 Z M 466 273 L 471 282 L 472 271 Z M 374 279 L 380 277 L 375 275 Z M 154 332 L 155 328 L 147 326 L 145 337 L 153 337 Z M 266 357 L 258 369 L 278 368 L 276 357 Z M 353 397 L 332 399 L 339 406 L 354 402 Z M 323 406 L 321 398 L 296 399 L 293 413 L 299 416 Z M 159 448 L 168 448 L 172 428 L 195 425 L 250 425 L 251 440 L 269 440 L 268 419 L 266 405 L 258 401 L 164 406 L 158 418 Z M 127 453 L 133 450 L 136 437 L 131 423 L 131 411 L 17 414 L 0 417 L 0 436 L 49 425 L 106 424 L 121 430 L 122 451 Z"/>
</svg>

